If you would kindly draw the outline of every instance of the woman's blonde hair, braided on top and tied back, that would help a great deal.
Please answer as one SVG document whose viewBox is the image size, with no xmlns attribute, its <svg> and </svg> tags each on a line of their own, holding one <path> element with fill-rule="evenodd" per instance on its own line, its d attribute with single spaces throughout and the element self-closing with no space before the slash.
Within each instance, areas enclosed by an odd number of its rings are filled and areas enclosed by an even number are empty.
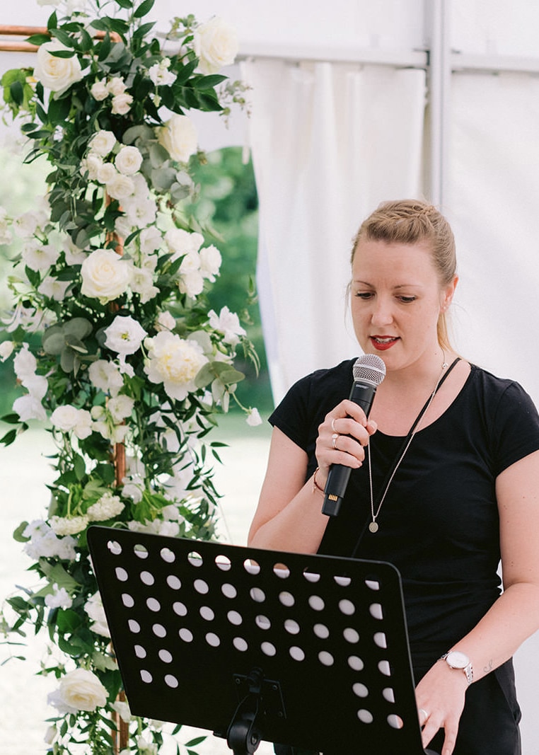
<svg viewBox="0 0 539 755">
<path fill-rule="evenodd" d="M 420 244 L 425 242 L 439 275 L 440 285 L 445 286 L 457 274 L 457 257 L 454 236 L 448 220 L 427 202 L 419 199 L 401 199 L 382 202 L 363 221 L 353 239 L 351 263 L 361 241 L 382 241 L 387 244 Z M 437 325 L 438 343 L 444 350 L 451 350 L 448 322 L 441 312 Z"/>
</svg>

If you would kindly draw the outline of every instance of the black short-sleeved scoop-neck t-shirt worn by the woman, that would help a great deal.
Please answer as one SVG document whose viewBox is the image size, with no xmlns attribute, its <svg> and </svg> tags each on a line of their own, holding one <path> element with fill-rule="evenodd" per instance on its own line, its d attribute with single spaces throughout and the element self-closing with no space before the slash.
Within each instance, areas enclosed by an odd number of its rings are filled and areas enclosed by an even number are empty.
<svg viewBox="0 0 539 755">
<path fill-rule="evenodd" d="M 350 394 L 354 361 L 304 377 L 270 417 L 306 451 L 307 479 L 316 468 L 319 424 Z M 380 431 L 371 437 L 375 504 L 403 442 Z M 361 537 L 358 558 L 396 565 L 416 660 L 451 647 L 500 594 L 496 477 L 537 449 L 539 416 L 528 394 L 514 381 L 472 365 L 451 406 L 415 434 L 383 501 L 375 534 L 366 529 L 368 464 L 352 471 L 319 553 L 351 556 Z M 322 496 L 313 505 L 321 506 Z"/>
</svg>

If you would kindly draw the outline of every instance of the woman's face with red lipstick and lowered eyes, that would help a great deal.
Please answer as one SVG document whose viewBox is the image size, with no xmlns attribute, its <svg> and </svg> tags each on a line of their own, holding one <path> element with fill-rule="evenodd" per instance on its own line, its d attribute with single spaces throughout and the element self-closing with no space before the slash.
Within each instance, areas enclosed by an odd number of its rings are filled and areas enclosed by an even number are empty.
<svg viewBox="0 0 539 755">
<path fill-rule="evenodd" d="M 362 240 L 352 267 L 352 319 L 365 353 L 402 369 L 439 356 L 436 325 L 457 278 L 440 285 L 427 243 Z"/>
</svg>

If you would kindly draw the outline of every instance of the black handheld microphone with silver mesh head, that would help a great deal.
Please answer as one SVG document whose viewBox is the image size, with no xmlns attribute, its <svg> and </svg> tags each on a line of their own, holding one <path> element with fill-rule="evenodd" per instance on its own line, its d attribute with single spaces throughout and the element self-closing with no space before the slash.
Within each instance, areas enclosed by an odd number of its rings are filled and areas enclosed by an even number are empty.
<svg viewBox="0 0 539 755">
<path fill-rule="evenodd" d="M 377 387 L 386 377 L 386 365 L 376 354 L 363 354 L 353 365 L 354 384 L 350 392 L 350 401 L 361 406 L 368 417 Z M 324 503 L 322 513 L 326 516 L 337 516 L 344 494 L 347 492 L 351 467 L 343 464 L 332 464 L 325 483 Z"/>
</svg>

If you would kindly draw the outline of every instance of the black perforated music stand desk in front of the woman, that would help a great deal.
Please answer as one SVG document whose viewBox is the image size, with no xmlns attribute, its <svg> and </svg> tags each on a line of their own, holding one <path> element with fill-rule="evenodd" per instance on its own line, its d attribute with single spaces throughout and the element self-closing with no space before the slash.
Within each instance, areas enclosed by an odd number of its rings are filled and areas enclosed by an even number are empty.
<svg viewBox="0 0 539 755">
<path fill-rule="evenodd" d="M 393 565 L 97 526 L 88 544 L 134 715 L 239 755 L 424 753 Z"/>
</svg>

